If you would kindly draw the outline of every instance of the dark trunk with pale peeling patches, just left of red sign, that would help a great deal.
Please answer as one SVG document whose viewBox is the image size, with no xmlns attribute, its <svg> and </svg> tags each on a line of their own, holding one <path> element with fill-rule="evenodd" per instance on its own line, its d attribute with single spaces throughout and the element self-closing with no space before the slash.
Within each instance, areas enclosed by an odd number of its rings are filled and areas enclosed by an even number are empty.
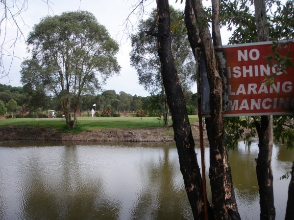
<svg viewBox="0 0 294 220">
<path fill-rule="evenodd" d="M 205 21 L 201 0 L 192 0 L 196 21 Z M 222 118 L 222 80 L 218 71 L 212 37 L 207 23 L 199 24 L 199 35 L 206 62 L 210 86 L 211 117 L 206 119 L 207 136 L 210 144 L 209 178 L 212 192 L 214 216 L 216 219 L 240 219 L 238 213 L 231 168 L 224 144 Z"/>
</svg>

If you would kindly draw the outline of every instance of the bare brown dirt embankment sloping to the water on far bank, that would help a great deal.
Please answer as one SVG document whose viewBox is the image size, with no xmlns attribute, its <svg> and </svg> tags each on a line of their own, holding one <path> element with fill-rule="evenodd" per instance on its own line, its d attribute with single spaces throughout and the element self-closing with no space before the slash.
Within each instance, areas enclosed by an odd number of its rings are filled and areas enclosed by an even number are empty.
<svg viewBox="0 0 294 220">
<path fill-rule="evenodd" d="M 198 125 L 192 125 L 195 140 L 199 139 Z M 207 139 L 204 132 L 204 139 Z M 173 141 L 172 128 L 152 129 L 98 129 L 78 134 L 60 133 L 42 127 L 7 126 L 0 128 L 0 140 L 56 140 L 56 141 Z"/>
</svg>

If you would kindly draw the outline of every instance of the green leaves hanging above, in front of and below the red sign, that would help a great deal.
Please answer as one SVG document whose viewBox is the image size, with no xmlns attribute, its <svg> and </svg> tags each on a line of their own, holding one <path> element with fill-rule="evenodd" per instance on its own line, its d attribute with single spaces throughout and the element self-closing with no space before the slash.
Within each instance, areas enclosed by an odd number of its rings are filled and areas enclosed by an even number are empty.
<svg viewBox="0 0 294 220">
<path fill-rule="evenodd" d="M 242 44 L 257 41 L 257 32 L 253 0 L 223 0 L 221 1 L 221 26 L 226 25 L 229 31 L 233 31 L 229 38 L 229 44 Z M 280 0 L 267 1 L 268 27 L 270 41 L 293 39 L 294 38 L 294 4 L 293 0 L 283 4 Z M 281 51 L 285 55 L 281 55 Z M 286 74 L 286 69 L 293 66 L 293 61 L 289 58 L 290 53 L 287 44 L 274 42 L 272 54 L 267 57 L 270 66 Z M 291 74 L 291 73 L 288 73 Z M 271 84 L 276 78 L 276 73 L 266 77 L 264 83 Z M 259 122 L 260 117 L 254 117 Z M 291 118 L 291 117 L 290 117 Z M 233 117 L 224 118 L 226 145 L 234 147 L 238 139 L 249 140 L 250 136 L 255 136 L 256 130 L 251 118 Z M 291 125 L 292 123 L 292 125 Z M 273 117 L 273 135 L 276 140 L 285 142 L 288 147 L 293 147 L 293 121 L 288 116 Z M 250 140 L 248 142 L 250 144 Z"/>
</svg>

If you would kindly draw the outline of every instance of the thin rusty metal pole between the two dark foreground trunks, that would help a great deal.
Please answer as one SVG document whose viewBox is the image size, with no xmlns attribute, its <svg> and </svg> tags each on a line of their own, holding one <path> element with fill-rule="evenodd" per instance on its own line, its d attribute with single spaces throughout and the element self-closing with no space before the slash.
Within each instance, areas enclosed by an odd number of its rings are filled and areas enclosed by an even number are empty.
<svg viewBox="0 0 294 220">
<path fill-rule="evenodd" d="M 200 134 L 200 155 L 201 155 L 201 171 L 202 171 L 202 190 L 203 190 L 203 200 L 204 200 L 204 216 L 205 220 L 208 220 L 207 211 L 207 194 L 206 194 L 206 176 L 205 176 L 205 162 L 204 162 L 204 144 L 203 144 L 203 126 L 202 117 L 198 115 L 199 118 L 199 134 Z"/>
</svg>

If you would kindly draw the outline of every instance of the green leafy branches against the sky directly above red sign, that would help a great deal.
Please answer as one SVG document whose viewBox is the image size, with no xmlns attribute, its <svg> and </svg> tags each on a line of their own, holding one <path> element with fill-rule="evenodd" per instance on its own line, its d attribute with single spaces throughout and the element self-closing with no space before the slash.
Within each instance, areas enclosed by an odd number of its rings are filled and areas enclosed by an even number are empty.
<svg viewBox="0 0 294 220">
<path fill-rule="evenodd" d="M 233 31 L 229 44 L 242 44 L 257 41 L 257 32 L 252 0 L 221 1 L 221 26 Z M 293 0 L 267 1 L 270 41 L 293 39 L 294 17 Z"/>
</svg>

